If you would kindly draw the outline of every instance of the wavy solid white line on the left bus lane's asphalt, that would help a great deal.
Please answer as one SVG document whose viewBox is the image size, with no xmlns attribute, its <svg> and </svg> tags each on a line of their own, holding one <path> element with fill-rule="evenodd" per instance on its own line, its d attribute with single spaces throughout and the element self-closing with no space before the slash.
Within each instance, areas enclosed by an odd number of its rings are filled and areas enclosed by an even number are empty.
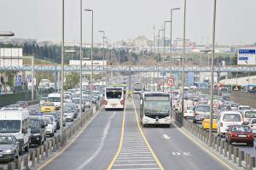
<svg viewBox="0 0 256 170">
<path fill-rule="evenodd" d="M 84 161 L 83 164 L 81 164 L 78 168 L 76 168 L 77 170 L 80 170 L 80 169 L 84 169 L 84 167 L 90 162 L 92 161 L 93 159 L 96 158 L 96 156 L 98 154 L 100 154 L 102 148 L 103 148 L 103 145 L 105 143 L 105 139 L 108 135 L 108 130 L 109 130 L 109 127 L 110 127 L 110 123 L 111 123 L 111 120 L 113 119 L 113 116 L 115 116 L 116 114 L 116 111 L 113 112 L 113 115 L 109 117 L 108 119 L 108 124 L 107 126 L 104 128 L 104 131 L 103 131 L 103 136 L 102 136 L 102 140 L 101 140 L 101 144 L 99 145 L 99 147 L 97 148 L 97 150 L 94 152 L 94 154 L 92 156 L 90 156 L 90 158 L 88 158 L 86 161 Z"/>
</svg>

